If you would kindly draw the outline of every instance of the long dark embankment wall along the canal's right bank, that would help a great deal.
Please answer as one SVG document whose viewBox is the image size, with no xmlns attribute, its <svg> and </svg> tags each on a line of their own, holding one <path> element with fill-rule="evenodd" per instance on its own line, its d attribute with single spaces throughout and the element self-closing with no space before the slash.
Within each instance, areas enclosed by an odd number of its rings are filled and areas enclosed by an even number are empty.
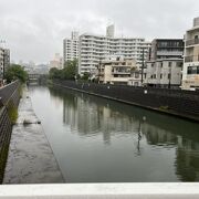
<svg viewBox="0 0 199 199">
<path fill-rule="evenodd" d="M 77 83 L 60 80 L 54 80 L 53 85 L 199 122 L 199 92 Z"/>
</svg>

